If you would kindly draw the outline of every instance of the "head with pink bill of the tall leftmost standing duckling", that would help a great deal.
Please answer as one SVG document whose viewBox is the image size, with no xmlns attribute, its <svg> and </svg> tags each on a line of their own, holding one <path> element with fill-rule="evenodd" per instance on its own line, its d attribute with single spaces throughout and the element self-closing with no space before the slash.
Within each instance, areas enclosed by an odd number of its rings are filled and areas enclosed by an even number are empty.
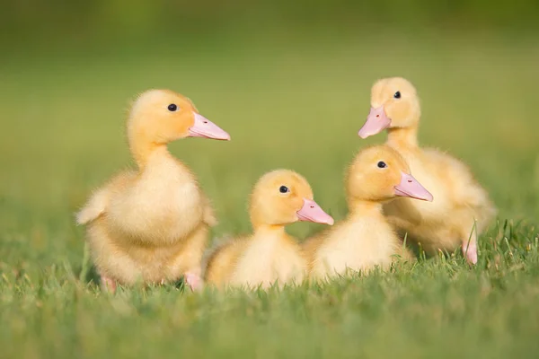
<svg viewBox="0 0 539 359">
<path fill-rule="evenodd" d="M 153 144 L 168 144 L 185 137 L 230 140 L 230 136 L 199 114 L 193 103 L 180 93 L 150 90 L 133 104 L 128 118 L 130 141 L 143 137 Z"/>
</svg>

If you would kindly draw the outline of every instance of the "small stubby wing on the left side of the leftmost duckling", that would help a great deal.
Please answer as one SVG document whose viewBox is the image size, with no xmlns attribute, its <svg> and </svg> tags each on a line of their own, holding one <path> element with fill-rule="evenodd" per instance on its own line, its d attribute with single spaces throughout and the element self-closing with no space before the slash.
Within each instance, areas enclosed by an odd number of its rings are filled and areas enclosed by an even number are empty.
<svg viewBox="0 0 539 359">
<path fill-rule="evenodd" d="M 134 180 L 135 177 L 135 172 L 120 173 L 105 186 L 93 192 L 86 205 L 76 214 L 76 223 L 87 224 L 103 215 L 110 203 L 110 197 L 128 187 L 128 183 Z"/>
</svg>

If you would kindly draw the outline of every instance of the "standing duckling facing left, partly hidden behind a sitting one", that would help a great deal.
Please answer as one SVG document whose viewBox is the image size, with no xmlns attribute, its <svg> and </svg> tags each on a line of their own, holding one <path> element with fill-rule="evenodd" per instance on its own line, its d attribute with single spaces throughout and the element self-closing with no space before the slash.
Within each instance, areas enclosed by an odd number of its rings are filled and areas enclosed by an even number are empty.
<svg viewBox="0 0 539 359">
<path fill-rule="evenodd" d="M 402 154 L 436 197 L 432 203 L 400 198 L 385 205 L 384 212 L 402 235 L 408 233 L 430 255 L 460 247 L 464 258 L 475 264 L 478 234 L 497 210 L 463 162 L 433 148 L 420 148 L 420 115 L 420 100 L 409 81 L 385 78 L 372 87 L 370 113 L 358 136 L 367 138 L 387 129 L 386 144 Z"/>
</svg>

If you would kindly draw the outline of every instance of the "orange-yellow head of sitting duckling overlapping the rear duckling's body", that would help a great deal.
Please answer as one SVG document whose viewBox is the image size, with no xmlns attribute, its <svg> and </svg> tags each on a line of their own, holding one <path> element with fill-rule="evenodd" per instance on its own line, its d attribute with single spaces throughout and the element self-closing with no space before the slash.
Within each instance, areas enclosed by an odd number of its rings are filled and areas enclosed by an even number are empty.
<svg viewBox="0 0 539 359">
<path fill-rule="evenodd" d="M 413 178 L 402 156 L 385 144 L 370 146 L 358 153 L 349 166 L 346 187 L 350 203 L 384 202 L 395 197 L 433 199 Z"/>
</svg>

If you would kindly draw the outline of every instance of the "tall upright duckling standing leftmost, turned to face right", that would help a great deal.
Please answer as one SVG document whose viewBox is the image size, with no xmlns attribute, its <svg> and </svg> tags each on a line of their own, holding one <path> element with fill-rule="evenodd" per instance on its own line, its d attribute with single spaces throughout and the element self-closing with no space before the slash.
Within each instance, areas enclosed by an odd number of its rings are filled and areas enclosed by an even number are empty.
<svg viewBox="0 0 539 359">
<path fill-rule="evenodd" d="M 127 121 L 137 171 L 113 177 L 90 197 L 76 221 L 87 225 L 91 256 L 110 291 L 117 283 L 163 284 L 185 276 L 199 287 L 208 228 L 216 218 L 195 175 L 167 149 L 185 137 L 230 140 L 192 102 L 169 90 L 150 90 Z"/>
</svg>

